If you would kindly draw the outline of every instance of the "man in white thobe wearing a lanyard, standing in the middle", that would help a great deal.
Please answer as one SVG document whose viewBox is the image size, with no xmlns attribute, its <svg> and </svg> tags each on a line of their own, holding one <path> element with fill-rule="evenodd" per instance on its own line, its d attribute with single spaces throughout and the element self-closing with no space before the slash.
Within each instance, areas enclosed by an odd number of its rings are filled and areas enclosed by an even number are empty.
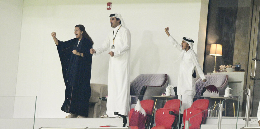
<svg viewBox="0 0 260 129">
<path fill-rule="evenodd" d="M 90 49 L 98 55 L 109 49 L 106 114 L 102 118 L 115 117 L 114 112 L 127 115 L 130 94 L 130 47 L 131 34 L 119 13 L 110 15 L 114 28 L 100 48 Z"/>
</svg>

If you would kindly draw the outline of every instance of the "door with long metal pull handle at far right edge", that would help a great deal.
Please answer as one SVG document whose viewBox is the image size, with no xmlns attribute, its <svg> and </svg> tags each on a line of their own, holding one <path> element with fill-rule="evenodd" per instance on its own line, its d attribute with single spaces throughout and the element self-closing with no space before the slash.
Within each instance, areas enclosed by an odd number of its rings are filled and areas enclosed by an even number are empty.
<svg viewBox="0 0 260 129">
<path fill-rule="evenodd" d="M 253 2 L 246 87 L 252 91 L 250 116 L 256 116 L 260 97 L 260 0 Z"/>
</svg>

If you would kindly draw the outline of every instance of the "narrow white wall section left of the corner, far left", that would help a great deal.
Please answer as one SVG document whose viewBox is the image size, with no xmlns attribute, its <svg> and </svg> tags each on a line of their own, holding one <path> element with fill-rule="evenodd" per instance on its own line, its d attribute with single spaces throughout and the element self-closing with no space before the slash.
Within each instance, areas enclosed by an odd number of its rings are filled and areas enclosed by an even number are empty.
<svg viewBox="0 0 260 129">
<path fill-rule="evenodd" d="M 0 118 L 14 112 L 23 0 L 0 0 Z"/>
</svg>

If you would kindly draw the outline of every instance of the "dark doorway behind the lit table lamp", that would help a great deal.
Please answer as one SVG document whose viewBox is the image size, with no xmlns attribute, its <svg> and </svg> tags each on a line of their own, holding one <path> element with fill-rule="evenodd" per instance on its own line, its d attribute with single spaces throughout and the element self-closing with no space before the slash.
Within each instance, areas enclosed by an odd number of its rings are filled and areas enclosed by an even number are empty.
<svg viewBox="0 0 260 129">
<path fill-rule="evenodd" d="M 252 101 L 252 111 L 254 111 L 252 114 L 255 115 L 259 103 L 260 89 L 260 86 L 257 86 L 260 85 L 259 12 L 260 0 L 209 0 L 203 65 L 204 74 L 214 70 L 215 58 L 209 55 L 210 46 L 211 44 L 221 44 L 222 56 L 217 57 L 216 70 L 219 69 L 220 65 L 241 64 L 241 69 L 245 72 L 244 83 L 239 88 L 241 90 L 236 93 L 246 88 L 251 89 L 255 84 Z M 254 69 L 255 62 L 258 62 L 256 69 Z M 241 104 L 243 107 L 240 111 L 244 116 L 246 97 L 241 98 L 243 98 L 243 104 Z"/>
</svg>

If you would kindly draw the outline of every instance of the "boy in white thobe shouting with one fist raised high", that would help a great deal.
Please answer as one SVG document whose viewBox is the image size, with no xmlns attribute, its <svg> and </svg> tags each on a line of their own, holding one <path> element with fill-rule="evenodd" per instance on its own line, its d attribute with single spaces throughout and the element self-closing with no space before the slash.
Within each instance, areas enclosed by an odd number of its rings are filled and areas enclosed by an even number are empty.
<svg viewBox="0 0 260 129">
<path fill-rule="evenodd" d="M 193 51 L 193 40 L 187 37 L 183 37 L 182 44 L 178 44 L 177 41 L 170 35 L 168 32 L 169 28 L 165 28 L 165 32 L 168 35 L 168 40 L 176 47 L 178 50 L 181 51 L 181 54 L 178 60 L 181 61 L 180 69 L 179 69 L 179 76 L 178 76 L 178 86 L 177 86 L 177 94 L 182 95 L 181 98 L 182 106 L 181 106 L 181 114 L 183 111 L 189 107 L 193 103 L 193 97 L 196 94 L 195 91 L 195 77 L 192 77 L 192 74 L 195 71 L 195 67 L 203 80 L 206 81 L 205 75 L 201 70 L 201 66 L 198 62 L 197 55 Z M 178 61 L 177 60 L 177 61 Z"/>
</svg>

